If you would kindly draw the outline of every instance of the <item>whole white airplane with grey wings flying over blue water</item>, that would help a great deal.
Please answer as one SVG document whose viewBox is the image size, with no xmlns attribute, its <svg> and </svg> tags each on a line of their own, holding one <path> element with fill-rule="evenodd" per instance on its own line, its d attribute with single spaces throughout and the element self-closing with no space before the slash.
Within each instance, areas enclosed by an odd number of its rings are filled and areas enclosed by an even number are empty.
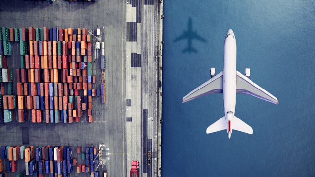
<svg viewBox="0 0 315 177">
<path fill-rule="evenodd" d="M 252 134 L 252 127 L 234 116 L 236 93 L 252 95 L 274 104 L 279 103 L 276 97 L 249 79 L 249 68 L 245 69 L 246 76 L 236 71 L 236 40 L 232 29 L 228 30 L 225 36 L 223 71 L 215 75 L 215 68 L 211 68 L 210 75 L 212 78 L 209 81 L 182 98 L 182 103 L 185 103 L 208 94 L 223 93 L 225 116 L 210 125 L 207 134 L 225 129 L 228 138 L 231 138 L 233 130 Z"/>
</svg>

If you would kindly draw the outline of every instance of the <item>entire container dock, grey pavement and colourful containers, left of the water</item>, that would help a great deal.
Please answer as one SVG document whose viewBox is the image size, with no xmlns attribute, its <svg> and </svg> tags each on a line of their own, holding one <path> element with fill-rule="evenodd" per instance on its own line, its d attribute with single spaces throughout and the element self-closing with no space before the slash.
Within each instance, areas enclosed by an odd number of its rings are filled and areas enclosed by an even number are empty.
<svg viewBox="0 0 315 177">
<path fill-rule="evenodd" d="M 0 177 L 160 177 L 162 2 L 1 6 Z"/>
</svg>

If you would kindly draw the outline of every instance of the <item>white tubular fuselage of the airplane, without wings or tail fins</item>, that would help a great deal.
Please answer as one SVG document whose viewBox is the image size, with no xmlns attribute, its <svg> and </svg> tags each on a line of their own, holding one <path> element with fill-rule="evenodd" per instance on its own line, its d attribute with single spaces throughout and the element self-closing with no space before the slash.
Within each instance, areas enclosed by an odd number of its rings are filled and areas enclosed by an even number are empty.
<svg viewBox="0 0 315 177">
<path fill-rule="evenodd" d="M 226 130 L 230 138 L 236 104 L 236 40 L 231 29 L 225 36 L 223 67 L 224 114 L 227 123 Z"/>
</svg>

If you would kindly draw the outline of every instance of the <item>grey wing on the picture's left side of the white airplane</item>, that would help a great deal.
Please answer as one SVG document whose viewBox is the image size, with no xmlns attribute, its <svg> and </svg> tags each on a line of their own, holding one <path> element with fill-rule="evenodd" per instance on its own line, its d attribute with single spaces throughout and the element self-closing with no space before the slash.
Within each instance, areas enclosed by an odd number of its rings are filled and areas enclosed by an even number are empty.
<svg viewBox="0 0 315 177">
<path fill-rule="evenodd" d="M 184 96 L 182 103 L 215 93 L 223 93 L 223 71 Z"/>
</svg>

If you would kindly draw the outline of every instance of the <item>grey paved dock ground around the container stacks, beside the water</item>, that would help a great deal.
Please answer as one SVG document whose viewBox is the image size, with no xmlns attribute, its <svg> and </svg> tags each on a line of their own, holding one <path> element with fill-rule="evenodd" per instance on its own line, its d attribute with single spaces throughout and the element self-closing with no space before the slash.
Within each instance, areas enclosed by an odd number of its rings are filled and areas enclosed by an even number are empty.
<svg viewBox="0 0 315 177">
<path fill-rule="evenodd" d="M 98 169 L 109 177 L 128 177 L 131 161 L 139 161 L 139 177 L 160 177 L 162 103 L 162 20 L 163 2 L 157 0 L 96 0 L 56 2 L 1 0 L 0 27 L 101 29 L 105 42 L 106 103 L 93 97 L 93 122 L 86 113 L 74 123 L 0 124 L 0 146 L 98 146 L 105 144 L 107 163 Z M 93 89 L 101 88 L 101 53 L 92 37 Z M 19 43 L 12 42 L 8 68 L 20 66 Z M 16 73 L 13 73 L 16 95 Z M 17 109 L 15 111 L 17 115 Z M 31 115 L 29 115 L 30 117 Z M 28 134 L 28 136 L 26 136 Z M 27 141 L 25 140 L 27 138 Z M 78 164 L 84 164 L 74 150 Z M 25 171 L 17 161 L 16 176 Z M 86 177 L 88 174 L 72 176 Z M 44 175 L 48 177 L 48 174 Z M 102 176 L 102 175 L 101 175 Z"/>
</svg>

